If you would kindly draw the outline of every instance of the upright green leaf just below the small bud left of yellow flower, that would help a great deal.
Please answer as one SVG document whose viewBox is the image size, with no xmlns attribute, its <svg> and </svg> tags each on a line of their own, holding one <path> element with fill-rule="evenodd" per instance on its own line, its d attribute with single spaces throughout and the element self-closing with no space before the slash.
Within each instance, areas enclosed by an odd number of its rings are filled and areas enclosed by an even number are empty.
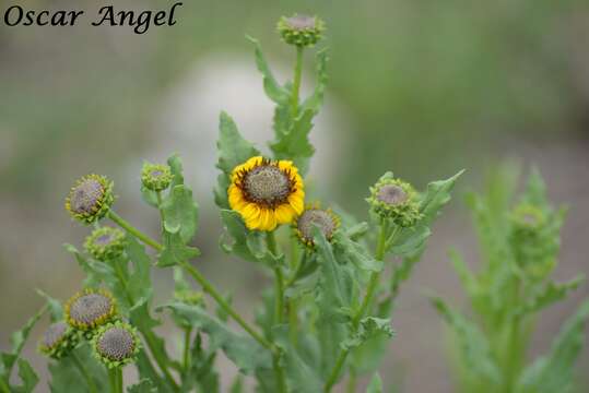
<svg viewBox="0 0 589 393">
<path fill-rule="evenodd" d="M 179 234 L 184 243 L 195 237 L 198 225 L 198 205 L 192 199 L 192 191 L 184 184 L 174 187 L 162 203 L 164 229 Z"/>
</svg>

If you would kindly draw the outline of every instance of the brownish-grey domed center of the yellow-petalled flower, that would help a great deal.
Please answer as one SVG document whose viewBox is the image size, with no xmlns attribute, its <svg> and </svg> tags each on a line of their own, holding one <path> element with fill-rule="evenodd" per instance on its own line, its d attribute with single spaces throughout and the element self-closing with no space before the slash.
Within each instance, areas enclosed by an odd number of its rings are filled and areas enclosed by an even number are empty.
<svg viewBox="0 0 589 393">
<path fill-rule="evenodd" d="M 262 165 L 247 172 L 243 181 L 246 199 L 270 206 L 285 203 L 292 182 L 287 174 L 274 165 Z"/>
</svg>

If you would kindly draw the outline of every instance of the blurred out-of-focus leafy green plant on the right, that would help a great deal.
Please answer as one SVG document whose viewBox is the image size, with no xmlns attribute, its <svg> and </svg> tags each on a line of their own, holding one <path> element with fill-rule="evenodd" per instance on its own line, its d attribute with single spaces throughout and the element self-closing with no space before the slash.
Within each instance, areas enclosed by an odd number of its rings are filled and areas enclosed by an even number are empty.
<svg viewBox="0 0 589 393">
<path fill-rule="evenodd" d="M 439 297 L 433 305 L 453 333 L 458 380 L 463 392 L 570 392 L 584 344 L 589 300 L 562 326 L 550 352 L 528 361 L 538 315 L 564 300 L 584 281 L 551 278 L 557 265 L 566 209 L 554 209 L 538 171 L 515 199 L 515 178 L 497 171 L 485 194 L 469 194 L 483 265 L 472 272 L 452 251 L 453 266 L 470 300 L 472 318 Z"/>
</svg>

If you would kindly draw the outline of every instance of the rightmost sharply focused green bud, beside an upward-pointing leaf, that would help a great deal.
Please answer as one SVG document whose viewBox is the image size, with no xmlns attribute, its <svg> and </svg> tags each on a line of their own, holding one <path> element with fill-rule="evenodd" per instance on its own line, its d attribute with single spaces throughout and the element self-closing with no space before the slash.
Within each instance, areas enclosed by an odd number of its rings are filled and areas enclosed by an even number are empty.
<svg viewBox="0 0 589 393">
<path fill-rule="evenodd" d="M 403 228 L 412 227 L 421 218 L 417 192 L 391 172 L 370 187 L 370 196 L 366 201 L 378 216 L 390 218 Z"/>
</svg>

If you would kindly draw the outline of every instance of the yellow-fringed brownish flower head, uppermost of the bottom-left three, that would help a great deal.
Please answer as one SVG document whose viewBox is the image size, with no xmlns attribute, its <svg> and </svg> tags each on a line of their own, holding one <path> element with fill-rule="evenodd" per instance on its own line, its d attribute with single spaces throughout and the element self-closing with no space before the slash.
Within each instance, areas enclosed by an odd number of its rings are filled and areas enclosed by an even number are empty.
<svg viewBox="0 0 589 393">
<path fill-rule="evenodd" d="M 116 318 L 115 299 L 106 290 L 85 289 L 66 302 L 68 323 L 82 331 L 90 331 Z"/>
</svg>

